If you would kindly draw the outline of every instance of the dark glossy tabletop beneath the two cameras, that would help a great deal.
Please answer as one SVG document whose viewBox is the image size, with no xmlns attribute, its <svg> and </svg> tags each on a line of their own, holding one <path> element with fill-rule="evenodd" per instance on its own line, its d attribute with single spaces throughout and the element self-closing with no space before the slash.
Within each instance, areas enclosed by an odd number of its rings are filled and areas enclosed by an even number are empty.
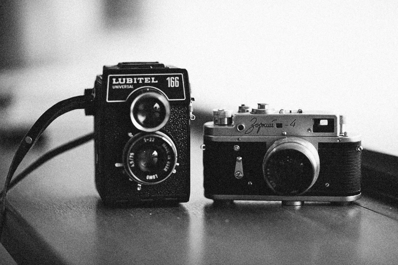
<svg viewBox="0 0 398 265">
<path fill-rule="evenodd" d="M 201 143 L 193 134 L 190 201 L 174 207 L 103 205 L 93 142 L 54 158 L 10 191 L 3 245 L 22 263 L 398 263 L 395 206 L 367 196 L 348 206 L 214 204 L 203 196 Z M 2 156 L 4 175 L 11 155 Z"/>
</svg>

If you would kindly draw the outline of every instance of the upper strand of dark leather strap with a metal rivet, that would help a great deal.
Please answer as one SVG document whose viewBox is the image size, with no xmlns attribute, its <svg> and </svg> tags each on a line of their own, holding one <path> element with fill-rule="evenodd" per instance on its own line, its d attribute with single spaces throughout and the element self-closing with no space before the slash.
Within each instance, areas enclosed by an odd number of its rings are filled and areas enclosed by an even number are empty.
<svg viewBox="0 0 398 265">
<path fill-rule="evenodd" d="M 11 179 L 17 170 L 22 159 L 26 153 L 32 148 L 43 131 L 50 125 L 50 123 L 61 115 L 77 109 L 86 109 L 91 106 L 94 100 L 93 94 L 86 94 L 81 96 L 75 96 L 56 103 L 54 106 L 45 111 L 40 118 L 33 124 L 32 128 L 27 132 L 25 137 L 22 139 L 15 152 L 14 158 L 11 162 L 9 172 L 7 174 L 6 181 L 4 183 L 3 197 L 2 197 L 2 208 L 1 208 L 1 219 L 0 219 L 0 237 L 3 233 L 3 225 L 5 221 L 5 209 L 6 209 L 6 195 L 11 182 Z"/>
</svg>

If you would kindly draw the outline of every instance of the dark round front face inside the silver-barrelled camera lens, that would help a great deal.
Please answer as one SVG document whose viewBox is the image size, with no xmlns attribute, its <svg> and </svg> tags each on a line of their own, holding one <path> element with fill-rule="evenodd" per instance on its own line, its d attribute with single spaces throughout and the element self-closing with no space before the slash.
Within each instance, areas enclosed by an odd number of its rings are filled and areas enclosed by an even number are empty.
<svg viewBox="0 0 398 265">
<path fill-rule="evenodd" d="M 314 170 L 309 159 L 297 150 L 281 150 L 268 160 L 266 177 L 280 195 L 297 195 L 312 182 Z"/>
</svg>

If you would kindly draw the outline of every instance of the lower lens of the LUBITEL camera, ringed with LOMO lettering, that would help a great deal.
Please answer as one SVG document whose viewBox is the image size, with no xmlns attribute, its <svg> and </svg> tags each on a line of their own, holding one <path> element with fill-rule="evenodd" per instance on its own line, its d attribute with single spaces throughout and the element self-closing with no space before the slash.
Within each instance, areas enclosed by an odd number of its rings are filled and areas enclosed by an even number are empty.
<svg viewBox="0 0 398 265">
<path fill-rule="evenodd" d="M 127 173 L 143 184 L 162 182 L 173 173 L 176 162 L 176 146 L 168 136 L 159 131 L 132 137 L 123 152 Z"/>
</svg>

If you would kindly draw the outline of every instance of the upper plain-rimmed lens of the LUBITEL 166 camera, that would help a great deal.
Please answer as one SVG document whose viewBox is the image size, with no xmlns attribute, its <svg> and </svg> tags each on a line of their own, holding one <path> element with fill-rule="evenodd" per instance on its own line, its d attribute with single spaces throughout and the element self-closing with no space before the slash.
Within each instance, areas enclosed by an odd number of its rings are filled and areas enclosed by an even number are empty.
<svg viewBox="0 0 398 265">
<path fill-rule="evenodd" d="M 131 104 L 130 117 L 134 126 L 152 132 L 162 128 L 170 117 L 167 98 L 155 91 L 138 95 Z"/>
</svg>

